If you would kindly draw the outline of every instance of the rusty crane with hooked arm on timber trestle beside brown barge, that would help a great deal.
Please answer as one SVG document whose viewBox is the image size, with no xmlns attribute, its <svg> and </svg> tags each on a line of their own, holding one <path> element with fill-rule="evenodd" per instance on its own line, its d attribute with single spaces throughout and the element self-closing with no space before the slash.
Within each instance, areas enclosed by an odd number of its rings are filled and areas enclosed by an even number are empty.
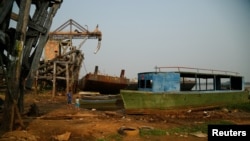
<svg viewBox="0 0 250 141">
<path fill-rule="evenodd" d="M 66 31 L 65 31 L 66 30 Z M 78 46 L 73 45 L 73 40 L 82 40 Z M 101 46 L 102 33 L 98 25 L 94 31 L 82 27 L 70 19 L 55 31 L 49 33 L 49 40 L 44 49 L 44 59 L 36 73 L 36 86 L 52 86 L 53 96 L 57 90 L 77 91 L 79 71 L 84 60 L 80 50 L 87 39 L 98 39 L 97 53 Z M 37 87 L 36 87 L 37 88 Z"/>
</svg>

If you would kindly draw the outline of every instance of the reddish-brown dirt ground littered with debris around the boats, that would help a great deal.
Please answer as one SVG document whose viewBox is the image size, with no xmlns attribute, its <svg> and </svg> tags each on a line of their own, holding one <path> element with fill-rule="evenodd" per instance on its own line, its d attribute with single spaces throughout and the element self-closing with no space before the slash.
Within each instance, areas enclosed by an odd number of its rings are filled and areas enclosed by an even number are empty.
<svg viewBox="0 0 250 141">
<path fill-rule="evenodd" d="M 77 94 L 74 95 L 76 97 Z M 250 113 L 237 109 L 182 109 L 153 110 L 146 114 L 128 114 L 121 101 L 116 108 L 102 109 L 81 106 L 80 110 L 68 107 L 66 96 L 53 99 L 50 92 L 25 95 L 25 113 L 35 103 L 39 115 L 23 115 L 24 130 L 1 135 L 0 141 L 206 141 L 206 133 L 176 133 L 140 136 L 139 129 L 171 129 L 192 127 L 204 122 L 230 121 L 250 124 Z M 2 114 L 2 113 L 0 113 Z M 1 115 L 2 116 L 2 115 Z"/>
</svg>

